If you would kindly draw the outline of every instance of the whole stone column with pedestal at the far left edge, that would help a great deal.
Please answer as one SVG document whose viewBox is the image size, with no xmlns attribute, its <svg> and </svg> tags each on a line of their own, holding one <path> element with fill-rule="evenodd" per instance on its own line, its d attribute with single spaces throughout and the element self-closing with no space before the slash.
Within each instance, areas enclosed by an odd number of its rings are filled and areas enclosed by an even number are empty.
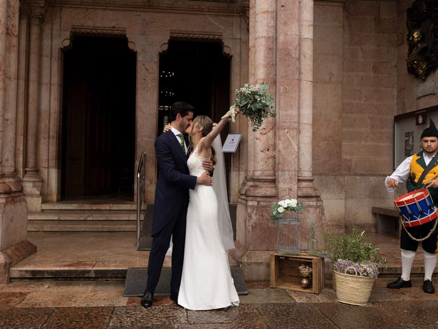
<svg viewBox="0 0 438 329">
<path fill-rule="evenodd" d="M 12 265 L 36 252 L 26 240 L 26 201 L 15 168 L 18 10 L 18 0 L 0 1 L 0 284 Z"/>
</svg>

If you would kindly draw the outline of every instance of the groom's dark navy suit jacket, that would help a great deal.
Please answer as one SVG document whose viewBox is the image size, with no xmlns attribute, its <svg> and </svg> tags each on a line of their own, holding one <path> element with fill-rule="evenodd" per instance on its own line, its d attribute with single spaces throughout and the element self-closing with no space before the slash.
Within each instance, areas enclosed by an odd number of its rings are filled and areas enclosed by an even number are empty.
<svg viewBox="0 0 438 329">
<path fill-rule="evenodd" d="M 189 188 L 196 186 L 196 176 L 189 175 L 187 156 L 171 130 L 155 141 L 158 162 L 158 180 L 151 235 L 168 225 L 181 210 L 186 211 Z"/>
</svg>

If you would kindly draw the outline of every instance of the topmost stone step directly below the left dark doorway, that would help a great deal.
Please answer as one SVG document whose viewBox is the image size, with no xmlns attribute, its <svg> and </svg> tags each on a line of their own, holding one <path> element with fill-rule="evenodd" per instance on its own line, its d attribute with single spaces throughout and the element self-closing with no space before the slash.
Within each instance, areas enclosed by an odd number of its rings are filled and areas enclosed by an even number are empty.
<svg viewBox="0 0 438 329">
<path fill-rule="evenodd" d="M 42 210 L 136 210 L 135 202 L 110 203 L 73 203 L 73 202 L 47 202 L 41 205 Z M 146 204 L 142 205 L 142 210 Z"/>
</svg>

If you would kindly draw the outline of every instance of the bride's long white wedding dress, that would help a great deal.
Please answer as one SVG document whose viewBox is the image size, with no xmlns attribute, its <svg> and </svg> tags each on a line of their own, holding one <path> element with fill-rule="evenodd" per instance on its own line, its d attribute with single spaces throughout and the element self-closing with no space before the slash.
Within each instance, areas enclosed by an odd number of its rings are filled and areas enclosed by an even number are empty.
<svg viewBox="0 0 438 329">
<path fill-rule="evenodd" d="M 205 172 L 203 160 L 194 149 L 187 161 L 190 175 L 200 176 Z M 218 201 L 213 188 L 196 185 L 190 190 L 178 295 L 178 304 L 190 310 L 212 310 L 239 304 L 217 217 Z"/>
</svg>

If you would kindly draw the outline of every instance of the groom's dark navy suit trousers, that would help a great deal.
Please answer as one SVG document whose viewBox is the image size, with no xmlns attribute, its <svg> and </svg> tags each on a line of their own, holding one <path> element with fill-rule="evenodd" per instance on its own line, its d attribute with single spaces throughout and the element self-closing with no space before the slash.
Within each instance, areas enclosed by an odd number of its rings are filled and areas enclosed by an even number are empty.
<svg viewBox="0 0 438 329">
<path fill-rule="evenodd" d="M 152 236 L 152 247 L 149 253 L 148 280 L 146 291 L 155 293 L 159 276 L 162 273 L 164 257 L 170 245 L 172 236 L 172 278 L 170 279 L 170 293 L 177 294 L 181 284 L 183 272 L 185 223 L 188 203 L 183 204 L 177 217 L 164 226 L 162 230 Z"/>
</svg>

